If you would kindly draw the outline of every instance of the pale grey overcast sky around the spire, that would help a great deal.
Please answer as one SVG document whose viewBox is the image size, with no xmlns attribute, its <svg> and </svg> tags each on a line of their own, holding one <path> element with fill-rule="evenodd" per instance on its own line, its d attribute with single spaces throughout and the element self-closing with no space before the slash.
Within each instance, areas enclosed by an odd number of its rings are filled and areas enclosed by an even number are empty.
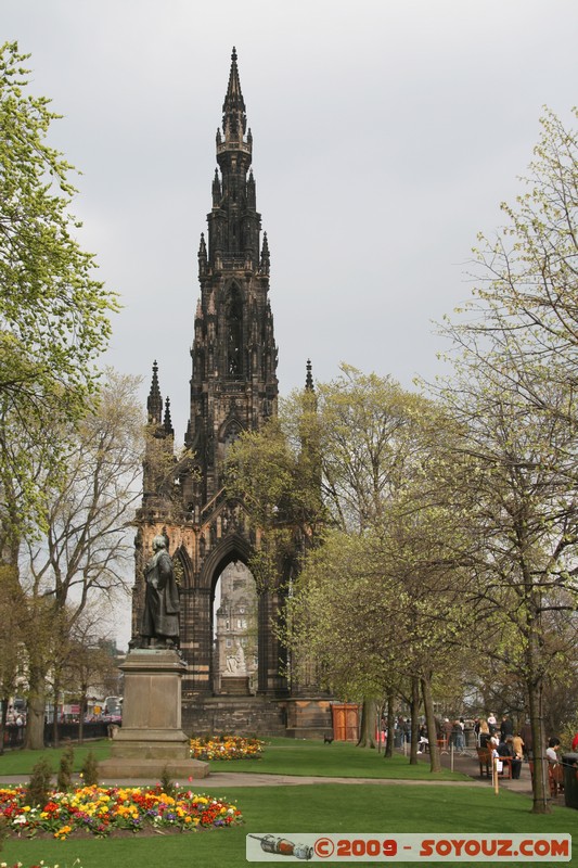
<svg viewBox="0 0 578 868">
<path fill-rule="evenodd" d="M 410 387 L 466 298 L 545 104 L 577 102 L 575 0 L 0 0 L 3 39 L 64 118 L 84 246 L 124 309 L 107 363 L 153 360 L 189 413 L 196 254 L 232 47 L 271 250 L 281 394 L 341 361 Z"/>
</svg>

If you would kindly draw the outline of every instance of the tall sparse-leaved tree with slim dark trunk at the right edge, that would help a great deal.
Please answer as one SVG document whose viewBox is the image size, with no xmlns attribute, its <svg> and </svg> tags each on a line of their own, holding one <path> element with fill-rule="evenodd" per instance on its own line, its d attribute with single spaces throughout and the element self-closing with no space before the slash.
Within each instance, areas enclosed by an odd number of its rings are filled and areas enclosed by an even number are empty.
<svg viewBox="0 0 578 868">
<path fill-rule="evenodd" d="M 577 602 L 577 143 L 547 112 L 530 189 L 502 206 L 509 225 L 496 242 L 480 237 L 476 301 L 446 328 L 455 373 L 442 396 L 464 431 L 457 499 L 477 524 L 476 605 L 494 653 L 526 686 L 538 813 L 549 809 L 544 685 L 574 654 L 563 639 Z"/>
</svg>

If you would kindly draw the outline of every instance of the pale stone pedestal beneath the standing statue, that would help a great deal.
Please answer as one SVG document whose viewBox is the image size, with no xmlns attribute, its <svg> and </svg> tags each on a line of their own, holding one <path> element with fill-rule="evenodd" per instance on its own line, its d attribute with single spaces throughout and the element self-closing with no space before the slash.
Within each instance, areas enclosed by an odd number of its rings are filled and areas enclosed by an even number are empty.
<svg viewBox="0 0 578 868">
<path fill-rule="evenodd" d="M 101 778 L 159 778 L 163 774 L 206 778 L 208 764 L 191 760 L 181 728 L 181 679 L 187 669 L 176 651 L 130 651 L 119 667 L 125 675 L 123 726 L 112 741 Z"/>
</svg>

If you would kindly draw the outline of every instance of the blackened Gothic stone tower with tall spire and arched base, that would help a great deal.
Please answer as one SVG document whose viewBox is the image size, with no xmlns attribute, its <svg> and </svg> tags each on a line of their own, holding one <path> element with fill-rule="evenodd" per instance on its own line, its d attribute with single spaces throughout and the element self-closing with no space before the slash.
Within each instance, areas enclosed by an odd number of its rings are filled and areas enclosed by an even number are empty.
<svg viewBox="0 0 578 868">
<path fill-rule="evenodd" d="M 235 726 L 231 707 L 218 701 L 215 588 L 229 564 L 248 563 L 256 545 L 243 505 L 228 500 L 223 489 L 227 449 L 240 432 L 257 430 L 274 414 L 278 401 L 269 246 L 267 235 L 261 238 L 252 151 L 233 49 L 222 130 L 217 131 L 218 168 L 208 233 L 206 240 L 201 235 L 198 247 L 201 295 L 192 323 L 185 457 L 175 457 L 170 406 L 168 399 L 163 403 L 155 361 L 147 401 L 144 493 L 137 516 L 133 635 L 144 598 L 143 565 L 151 556 L 152 539 L 164 534 L 180 585 L 180 647 L 188 667 L 183 724 L 197 730 L 219 729 L 221 717 L 222 729 L 231 731 Z M 277 588 L 259 592 L 257 697 L 247 697 L 236 718 L 237 728 L 245 731 L 284 728 L 288 690 L 280 675 L 283 652 L 272 629 L 282 603 Z M 235 701 L 239 710 L 243 703 L 240 698 Z"/>
</svg>

